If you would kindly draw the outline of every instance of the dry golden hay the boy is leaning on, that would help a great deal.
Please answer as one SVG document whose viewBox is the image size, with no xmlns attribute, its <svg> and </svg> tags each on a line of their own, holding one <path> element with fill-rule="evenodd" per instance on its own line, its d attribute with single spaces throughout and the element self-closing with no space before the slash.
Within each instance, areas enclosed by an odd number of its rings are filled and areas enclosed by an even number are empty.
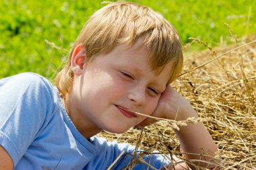
<svg viewBox="0 0 256 170">
<path fill-rule="evenodd" d="M 187 73 L 172 86 L 191 102 L 214 138 L 219 151 L 213 159 L 222 160 L 216 165 L 222 169 L 256 169 L 256 42 L 203 65 L 233 48 L 216 48 L 216 54 L 210 48 L 193 54 L 185 52 L 183 72 Z M 128 142 L 148 153 L 159 151 L 182 159 L 172 127 L 170 122 L 160 121 L 143 130 L 132 129 L 125 134 L 102 132 L 100 136 Z"/>
</svg>

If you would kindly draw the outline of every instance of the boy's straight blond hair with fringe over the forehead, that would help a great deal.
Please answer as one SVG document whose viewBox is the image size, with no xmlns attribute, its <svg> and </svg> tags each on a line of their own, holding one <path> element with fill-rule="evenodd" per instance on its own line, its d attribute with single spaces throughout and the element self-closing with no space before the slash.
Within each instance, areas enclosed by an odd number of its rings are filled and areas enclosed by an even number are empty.
<svg viewBox="0 0 256 170">
<path fill-rule="evenodd" d="M 56 85 L 62 95 L 73 87 L 71 56 L 78 44 L 86 48 L 86 59 L 94 54 L 110 52 L 117 44 L 135 44 L 141 38 L 150 56 L 153 70 L 173 63 L 168 83 L 177 78 L 183 67 L 183 52 L 176 30 L 169 22 L 149 7 L 131 2 L 110 3 L 96 11 L 80 32 L 65 67 L 59 72 Z M 162 70 L 162 69 L 161 69 Z"/>
</svg>

